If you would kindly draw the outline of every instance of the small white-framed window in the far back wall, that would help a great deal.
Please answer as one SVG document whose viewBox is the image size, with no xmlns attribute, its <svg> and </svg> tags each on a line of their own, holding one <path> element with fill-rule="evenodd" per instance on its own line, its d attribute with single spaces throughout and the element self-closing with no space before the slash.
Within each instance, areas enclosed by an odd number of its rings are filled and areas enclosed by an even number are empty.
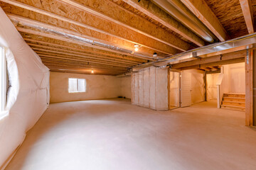
<svg viewBox="0 0 256 170">
<path fill-rule="evenodd" d="M 86 80 L 85 79 L 68 79 L 68 93 L 78 93 L 86 91 Z"/>
</svg>

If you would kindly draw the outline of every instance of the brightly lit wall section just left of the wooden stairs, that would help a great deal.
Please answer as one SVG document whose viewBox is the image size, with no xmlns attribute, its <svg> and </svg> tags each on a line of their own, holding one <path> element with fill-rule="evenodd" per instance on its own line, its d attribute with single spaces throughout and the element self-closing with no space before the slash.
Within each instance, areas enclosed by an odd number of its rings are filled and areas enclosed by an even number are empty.
<svg viewBox="0 0 256 170">
<path fill-rule="evenodd" d="M 217 86 L 218 77 L 220 74 L 206 74 L 206 84 L 207 84 L 207 100 L 217 98 Z"/>
</svg>

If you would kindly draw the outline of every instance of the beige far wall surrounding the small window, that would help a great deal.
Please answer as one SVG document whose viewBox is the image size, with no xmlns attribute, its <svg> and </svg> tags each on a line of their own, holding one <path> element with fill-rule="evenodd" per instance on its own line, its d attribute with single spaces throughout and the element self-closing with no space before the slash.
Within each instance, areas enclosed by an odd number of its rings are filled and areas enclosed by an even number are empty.
<svg viewBox="0 0 256 170">
<path fill-rule="evenodd" d="M 68 78 L 86 79 L 86 91 L 68 93 Z M 50 72 L 50 103 L 121 96 L 119 77 Z"/>
</svg>

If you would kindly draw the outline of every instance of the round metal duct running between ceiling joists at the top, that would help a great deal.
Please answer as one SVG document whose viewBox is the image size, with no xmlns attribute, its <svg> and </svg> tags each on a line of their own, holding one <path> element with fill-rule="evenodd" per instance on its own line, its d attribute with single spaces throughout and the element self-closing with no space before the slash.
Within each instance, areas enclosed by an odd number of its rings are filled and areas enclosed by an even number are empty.
<svg viewBox="0 0 256 170">
<path fill-rule="evenodd" d="M 206 26 L 198 21 L 198 18 L 193 15 L 186 7 L 177 0 L 154 0 L 155 4 L 163 8 L 167 13 L 174 16 L 178 21 L 181 21 L 185 26 L 193 30 L 196 34 L 201 36 L 204 40 L 208 42 L 214 41 L 213 33 L 206 28 Z"/>
</svg>

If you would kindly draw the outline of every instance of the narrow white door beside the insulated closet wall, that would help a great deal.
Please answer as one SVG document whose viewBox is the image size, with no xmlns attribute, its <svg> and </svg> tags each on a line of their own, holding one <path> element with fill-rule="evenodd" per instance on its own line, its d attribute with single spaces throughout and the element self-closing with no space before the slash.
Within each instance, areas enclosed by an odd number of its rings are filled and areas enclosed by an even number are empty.
<svg viewBox="0 0 256 170">
<path fill-rule="evenodd" d="M 191 106 L 191 73 L 181 72 L 181 107 Z"/>
</svg>

